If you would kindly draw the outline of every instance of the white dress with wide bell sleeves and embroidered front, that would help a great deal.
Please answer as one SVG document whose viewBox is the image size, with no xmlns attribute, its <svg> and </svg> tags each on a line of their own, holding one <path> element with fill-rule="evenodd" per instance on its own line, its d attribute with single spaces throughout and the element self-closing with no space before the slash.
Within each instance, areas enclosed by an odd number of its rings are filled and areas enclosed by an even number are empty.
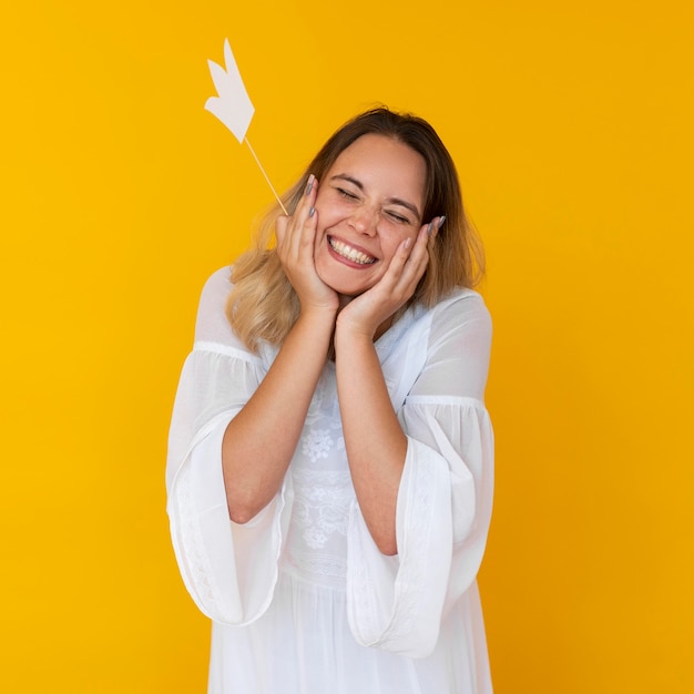
<svg viewBox="0 0 694 694">
<path fill-rule="evenodd" d="M 493 487 L 480 295 L 409 310 L 376 343 L 408 437 L 398 554 L 386 557 L 351 486 L 331 363 L 276 498 L 248 523 L 229 520 L 222 437 L 277 353 L 235 337 L 229 288 L 224 268 L 203 290 L 166 471 L 181 573 L 213 620 L 208 693 L 490 693 L 476 583 Z"/>
</svg>

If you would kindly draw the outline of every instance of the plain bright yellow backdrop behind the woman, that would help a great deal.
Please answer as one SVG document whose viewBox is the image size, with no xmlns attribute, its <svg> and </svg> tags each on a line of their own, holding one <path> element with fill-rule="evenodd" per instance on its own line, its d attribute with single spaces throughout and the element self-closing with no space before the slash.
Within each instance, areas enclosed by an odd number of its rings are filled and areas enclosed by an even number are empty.
<svg viewBox="0 0 694 694">
<path fill-rule="evenodd" d="M 694 691 L 691 2 L 6 4 L 0 691 L 204 691 L 169 417 L 201 286 L 272 201 L 203 110 L 225 37 L 278 188 L 376 102 L 458 162 L 496 328 L 496 691 Z"/>
</svg>

